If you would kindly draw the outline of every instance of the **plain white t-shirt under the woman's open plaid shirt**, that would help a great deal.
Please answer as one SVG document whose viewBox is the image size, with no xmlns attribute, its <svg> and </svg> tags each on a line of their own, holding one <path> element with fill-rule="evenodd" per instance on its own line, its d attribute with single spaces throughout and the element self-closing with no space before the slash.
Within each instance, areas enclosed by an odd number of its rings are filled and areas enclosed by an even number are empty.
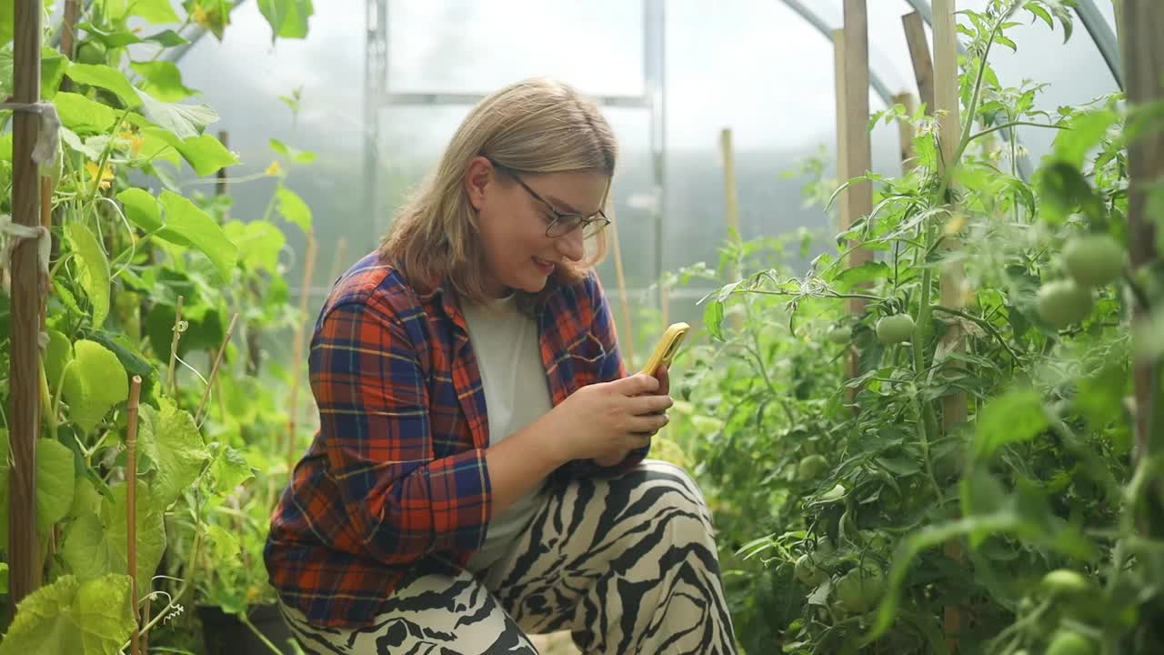
<svg viewBox="0 0 1164 655">
<path fill-rule="evenodd" d="M 489 444 L 509 437 L 551 410 L 553 402 L 541 364 L 538 326 L 517 308 L 516 296 L 464 303 L 469 341 L 481 369 L 489 421 Z M 517 536 L 538 508 L 540 486 L 519 498 L 485 531 L 485 543 L 469 561 L 481 571 L 513 548 Z"/>
</svg>

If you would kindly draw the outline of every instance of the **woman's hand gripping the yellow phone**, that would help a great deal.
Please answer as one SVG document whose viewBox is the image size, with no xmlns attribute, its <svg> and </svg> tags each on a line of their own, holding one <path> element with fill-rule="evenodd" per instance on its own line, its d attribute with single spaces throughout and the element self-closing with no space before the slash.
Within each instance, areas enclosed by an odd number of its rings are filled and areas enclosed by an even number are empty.
<svg viewBox="0 0 1164 655">
<path fill-rule="evenodd" d="M 603 466 L 622 462 L 629 452 L 651 442 L 667 424 L 673 401 L 661 379 L 636 374 L 574 392 L 544 420 L 549 422 L 554 449 L 563 460 L 594 459 Z"/>
</svg>

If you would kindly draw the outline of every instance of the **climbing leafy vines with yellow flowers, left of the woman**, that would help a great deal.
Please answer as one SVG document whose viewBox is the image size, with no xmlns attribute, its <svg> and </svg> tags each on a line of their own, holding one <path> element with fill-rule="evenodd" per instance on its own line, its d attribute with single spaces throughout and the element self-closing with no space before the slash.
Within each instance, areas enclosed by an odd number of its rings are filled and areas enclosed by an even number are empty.
<svg viewBox="0 0 1164 655">
<path fill-rule="evenodd" d="M 158 633 L 191 620 L 194 613 L 183 613 L 183 605 L 244 612 L 274 599 L 261 552 L 274 494 L 288 476 L 278 455 L 289 445 L 281 396 L 300 371 L 263 366 L 262 347 L 303 317 L 288 309 L 286 238 L 270 219 L 278 206 L 286 220 L 310 230 L 311 209 L 271 171 L 233 179 L 269 185 L 271 209 L 264 216 L 230 217 L 228 196 L 192 191 L 191 177 L 243 162 L 210 132 L 218 113 L 191 100 L 198 90 L 156 56 L 186 44 L 176 31 L 182 21 L 221 38 L 233 5 L 189 0 L 179 15 L 169 0 L 83 3 L 77 61 L 43 50 L 42 96 L 56 104 L 62 120 L 51 196 L 57 248 L 41 351 L 44 421 L 36 441 L 36 543 L 45 586 L 16 608 L 0 653 L 125 652 L 134 625 L 129 608 L 155 591 L 165 593 L 142 629 L 155 633 L 155 648 L 185 648 Z M 12 87 L 12 6 L 0 2 L 0 94 Z M 263 13 L 277 36 L 300 37 L 312 6 L 268 2 Z M 47 26 L 44 43 L 59 28 Z M 70 90 L 59 91 L 66 79 Z M 0 120 L 9 118 L 0 112 Z M 314 160 L 274 140 L 271 149 L 283 165 Z M 12 135 L 0 135 L 6 193 L 12 150 Z M 263 171 L 267 162 L 247 164 Z M 10 205 L 10 198 L 0 204 Z M 9 312 L 9 298 L 0 293 L 5 344 Z M 225 344 L 207 394 L 211 362 L 235 312 L 235 336 Z M 0 359 L 7 352 L 0 346 Z M 134 375 L 142 378 L 137 477 L 127 479 Z M 9 385 L 0 381 L 5 408 Z M 3 420 L 0 445 L 8 452 Z M 8 477 L 6 459 L 0 463 L 5 544 Z M 136 494 L 133 517 L 129 488 Z M 135 590 L 126 575 L 130 519 Z M 159 570 L 168 577 L 157 577 Z M 6 591 L 7 563 L 0 562 L 0 571 Z"/>
</svg>

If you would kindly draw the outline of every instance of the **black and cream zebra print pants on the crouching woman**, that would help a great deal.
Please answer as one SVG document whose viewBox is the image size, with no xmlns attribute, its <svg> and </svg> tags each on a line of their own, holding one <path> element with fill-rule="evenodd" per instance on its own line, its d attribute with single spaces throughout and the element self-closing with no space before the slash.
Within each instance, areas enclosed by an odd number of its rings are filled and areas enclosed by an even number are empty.
<svg viewBox="0 0 1164 655">
<path fill-rule="evenodd" d="M 368 627 L 308 625 L 307 653 L 537 654 L 526 634 L 569 628 L 585 655 L 732 655 L 711 517 L 683 470 L 646 460 L 617 478 L 548 485 L 510 554 L 473 575 L 418 570 Z"/>
</svg>

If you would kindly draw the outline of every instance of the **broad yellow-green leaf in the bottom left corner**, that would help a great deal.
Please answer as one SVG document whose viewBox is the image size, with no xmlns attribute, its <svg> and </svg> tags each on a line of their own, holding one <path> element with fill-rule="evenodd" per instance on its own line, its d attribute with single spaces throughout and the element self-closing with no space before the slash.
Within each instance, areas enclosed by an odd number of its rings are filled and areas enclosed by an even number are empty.
<svg viewBox="0 0 1164 655">
<path fill-rule="evenodd" d="M 129 584 L 123 575 L 61 576 L 16 606 L 0 655 L 116 653 L 134 628 Z"/>
</svg>

